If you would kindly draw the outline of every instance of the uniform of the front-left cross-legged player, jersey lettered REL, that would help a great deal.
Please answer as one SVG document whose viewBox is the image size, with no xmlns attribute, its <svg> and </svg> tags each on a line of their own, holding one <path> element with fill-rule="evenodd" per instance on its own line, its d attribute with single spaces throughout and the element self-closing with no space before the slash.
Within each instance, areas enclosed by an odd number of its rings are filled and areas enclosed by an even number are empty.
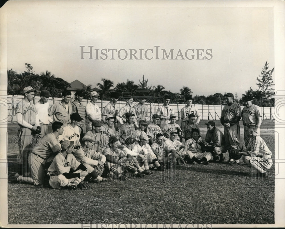
<svg viewBox="0 0 285 229">
<path fill-rule="evenodd" d="M 57 154 L 48 168 L 50 186 L 59 189 L 70 186 L 74 182 L 76 182 L 76 185 L 79 184 L 85 178 L 85 176 L 80 176 L 80 172 L 83 170 L 79 169 L 73 174 L 69 172 L 70 169 L 76 170 L 80 165 L 82 164 L 80 164 L 72 154 L 67 154 L 66 157 L 64 157 L 61 152 Z"/>
</svg>

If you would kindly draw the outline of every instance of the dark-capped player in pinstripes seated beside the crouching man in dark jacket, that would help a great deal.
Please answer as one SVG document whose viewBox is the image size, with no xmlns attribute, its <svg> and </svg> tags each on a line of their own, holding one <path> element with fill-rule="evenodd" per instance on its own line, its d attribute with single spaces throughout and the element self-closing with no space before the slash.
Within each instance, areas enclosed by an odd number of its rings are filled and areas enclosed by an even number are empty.
<svg viewBox="0 0 285 229">
<path fill-rule="evenodd" d="M 203 144 L 201 136 L 199 136 L 199 130 L 192 130 L 192 138 L 185 142 L 182 157 L 185 155 L 184 160 L 192 164 L 209 164 L 209 160 L 212 158 L 210 152 L 203 152 L 201 145 Z"/>
</svg>

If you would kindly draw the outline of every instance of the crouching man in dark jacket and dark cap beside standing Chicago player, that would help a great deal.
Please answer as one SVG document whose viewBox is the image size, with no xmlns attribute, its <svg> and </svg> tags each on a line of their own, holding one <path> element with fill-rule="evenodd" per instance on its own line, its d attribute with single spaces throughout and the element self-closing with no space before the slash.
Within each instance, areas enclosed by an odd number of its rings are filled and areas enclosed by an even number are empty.
<svg viewBox="0 0 285 229">
<path fill-rule="evenodd" d="M 221 130 L 215 127 L 214 121 L 209 121 L 206 123 L 207 133 L 205 140 L 202 142 L 205 144 L 205 150 L 213 154 L 213 161 L 218 160 L 223 162 L 225 160 L 224 153 L 227 152 L 227 147 L 225 146 L 225 137 Z"/>
</svg>

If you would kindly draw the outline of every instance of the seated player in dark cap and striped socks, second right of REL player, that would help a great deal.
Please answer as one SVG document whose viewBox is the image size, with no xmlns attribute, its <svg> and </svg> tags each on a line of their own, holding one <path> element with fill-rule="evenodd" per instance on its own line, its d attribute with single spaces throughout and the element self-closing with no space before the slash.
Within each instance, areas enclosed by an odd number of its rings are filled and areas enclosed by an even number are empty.
<svg viewBox="0 0 285 229">
<path fill-rule="evenodd" d="M 119 139 L 115 136 L 109 137 L 109 147 L 105 148 L 103 155 L 106 157 L 106 167 L 110 175 L 115 175 L 119 180 L 126 180 L 124 172 L 131 172 L 134 177 L 143 177 L 134 166 L 133 157 L 118 148 Z"/>
</svg>

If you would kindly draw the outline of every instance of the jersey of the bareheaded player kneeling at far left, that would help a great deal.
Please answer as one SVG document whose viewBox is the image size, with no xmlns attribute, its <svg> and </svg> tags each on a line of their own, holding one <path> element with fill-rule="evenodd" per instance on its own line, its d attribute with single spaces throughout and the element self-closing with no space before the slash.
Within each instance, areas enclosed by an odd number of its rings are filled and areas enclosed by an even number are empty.
<svg viewBox="0 0 285 229">
<path fill-rule="evenodd" d="M 42 159 L 46 159 L 50 154 L 60 150 L 61 146 L 58 138 L 53 133 L 49 133 L 43 136 L 41 141 L 34 146 L 33 153 Z"/>
</svg>

